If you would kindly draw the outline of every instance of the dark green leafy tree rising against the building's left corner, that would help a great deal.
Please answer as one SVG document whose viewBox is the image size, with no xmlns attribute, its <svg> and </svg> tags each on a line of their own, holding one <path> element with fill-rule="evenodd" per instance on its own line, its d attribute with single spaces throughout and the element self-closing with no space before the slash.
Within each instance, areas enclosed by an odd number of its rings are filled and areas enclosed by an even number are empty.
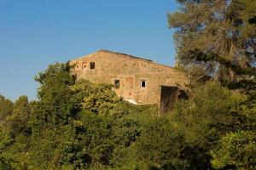
<svg viewBox="0 0 256 170">
<path fill-rule="evenodd" d="M 52 127 L 65 124 L 75 113 L 72 102 L 73 90 L 70 88 L 75 77 L 70 74 L 72 67 L 67 64 L 49 65 L 35 80 L 41 84 L 38 89 L 38 102 L 32 104 L 33 123 L 38 126 L 48 124 Z M 37 127 L 35 124 L 33 127 Z"/>
</svg>

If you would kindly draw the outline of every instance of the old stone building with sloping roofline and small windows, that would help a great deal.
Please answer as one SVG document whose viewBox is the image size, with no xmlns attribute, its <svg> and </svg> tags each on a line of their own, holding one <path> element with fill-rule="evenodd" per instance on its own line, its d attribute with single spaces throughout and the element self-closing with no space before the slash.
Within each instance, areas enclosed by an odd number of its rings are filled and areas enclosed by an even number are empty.
<svg viewBox="0 0 256 170">
<path fill-rule="evenodd" d="M 113 84 L 116 94 L 133 104 L 156 104 L 166 112 L 176 99 L 185 97 L 183 73 L 149 59 L 99 50 L 73 59 L 71 64 L 79 79 Z"/>
</svg>

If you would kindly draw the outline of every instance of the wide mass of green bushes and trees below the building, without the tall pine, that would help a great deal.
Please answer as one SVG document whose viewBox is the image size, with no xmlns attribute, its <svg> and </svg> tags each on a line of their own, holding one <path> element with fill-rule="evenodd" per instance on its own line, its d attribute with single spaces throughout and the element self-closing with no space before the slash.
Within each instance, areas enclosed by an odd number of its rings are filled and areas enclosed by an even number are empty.
<svg viewBox="0 0 256 170">
<path fill-rule="evenodd" d="M 214 169 L 255 163 L 255 105 L 218 82 L 195 85 L 172 113 L 131 105 L 107 84 L 75 81 L 70 67 L 37 77 L 0 128 L 2 169 Z"/>
</svg>

